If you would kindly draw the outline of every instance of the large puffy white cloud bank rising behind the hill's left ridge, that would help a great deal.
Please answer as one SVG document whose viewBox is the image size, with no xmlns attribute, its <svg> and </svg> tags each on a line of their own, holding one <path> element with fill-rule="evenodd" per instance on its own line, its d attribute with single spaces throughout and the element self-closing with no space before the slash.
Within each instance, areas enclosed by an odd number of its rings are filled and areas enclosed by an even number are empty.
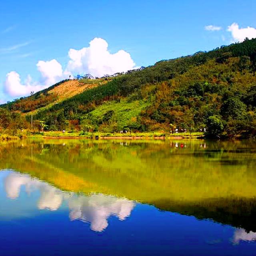
<svg viewBox="0 0 256 256">
<path fill-rule="evenodd" d="M 13 50 L 22 45 L 12 46 Z M 112 75 L 117 72 L 126 72 L 136 68 L 130 54 L 124 50 L 112 54 L 108 51 L 108 43 L 102 38 L 94 38 L 89 47 L 80 50 L 70 49 L 68 51 L 69 61 L 65 69 L 56 60 L 39 60 L 36 64 L 41 74 L 40 82 L 34 81 L 30 76 L 25 82 L 21 82 L 20 74 L 11 71 L 6 75 L 4 92 L 11 97 L 27 96 L 31 91 L 37 92 L 56 82 L 67 79 L 70 75 L 84 75 L 90 73 L 92 76 Z"/>
</svg>

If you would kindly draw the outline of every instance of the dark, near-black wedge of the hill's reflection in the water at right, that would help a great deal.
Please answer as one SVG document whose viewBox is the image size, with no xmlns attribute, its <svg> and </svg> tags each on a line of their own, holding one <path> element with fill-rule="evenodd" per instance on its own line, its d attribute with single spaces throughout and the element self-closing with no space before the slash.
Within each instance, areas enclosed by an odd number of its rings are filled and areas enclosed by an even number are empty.
<svg viewBox="0 0 256 256">
<path fill-rule="evenodd" d="M 172 200 L 152 201 L 162 210 L 178 212 L 179 214 L 210 219 L 236 228 L 243 228 L 245 232 L 256 232 L 256 198 L 208 198 L 198 202 L 175 202 Z"/>
</svg>

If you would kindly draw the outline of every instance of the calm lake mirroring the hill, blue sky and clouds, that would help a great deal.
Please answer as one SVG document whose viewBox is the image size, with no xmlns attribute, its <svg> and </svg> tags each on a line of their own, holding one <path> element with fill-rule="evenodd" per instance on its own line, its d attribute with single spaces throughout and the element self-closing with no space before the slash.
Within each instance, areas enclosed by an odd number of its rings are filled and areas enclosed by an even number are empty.
<svg viewBox="0 0 256 256">
<path fill-rule="evenodd" d="M 0 255 L 255 255 L 256 145 L 0 143 Z"/>
</svg>

